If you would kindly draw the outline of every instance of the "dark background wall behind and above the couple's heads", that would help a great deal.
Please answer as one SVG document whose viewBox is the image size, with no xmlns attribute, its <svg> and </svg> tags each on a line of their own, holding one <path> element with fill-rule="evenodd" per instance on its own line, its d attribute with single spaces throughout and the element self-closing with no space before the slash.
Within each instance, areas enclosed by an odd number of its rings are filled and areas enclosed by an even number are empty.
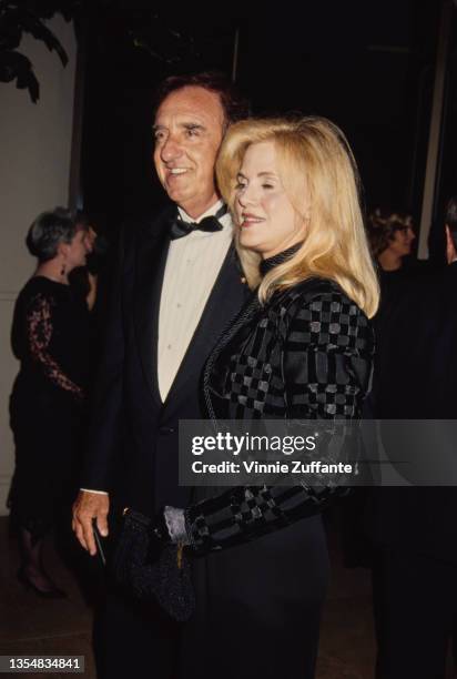
<svg viewBox="0 0 457 679">
<path fill-rule="evenodd" d="M 94 10 L 83 50 L 85 209 L 110 229 L 163 200 L 152 166 L 153 89 L 170 73 L 231 73 L 238 30 L 236 80 L 253 113 L 331 118 L 353 145 L 367 206 L 408 209 L 418 221 L 439 13 L 439 0 L 286 1 L 243 13 L 221 4 L 179 16 L 133 0 Z M 453 47 L 436 212 L 457 191 L 455 54 Z"/>
</svg>

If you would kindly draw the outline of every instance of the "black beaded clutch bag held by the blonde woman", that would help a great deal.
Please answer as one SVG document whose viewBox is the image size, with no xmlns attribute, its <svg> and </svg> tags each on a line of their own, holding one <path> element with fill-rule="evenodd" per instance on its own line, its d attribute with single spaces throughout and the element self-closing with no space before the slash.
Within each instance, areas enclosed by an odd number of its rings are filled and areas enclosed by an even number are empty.
<svg viewBox="0 0 457 679">
<path fill-rule="evenodd" d="M 195 609 L 191 567 L 182 546 L 160 546 L 150 518 L 126 509 L 112 555 L 118 585 L 142 601 L 155 601 L 174 620 L 185 622 Z"/>
</svg>

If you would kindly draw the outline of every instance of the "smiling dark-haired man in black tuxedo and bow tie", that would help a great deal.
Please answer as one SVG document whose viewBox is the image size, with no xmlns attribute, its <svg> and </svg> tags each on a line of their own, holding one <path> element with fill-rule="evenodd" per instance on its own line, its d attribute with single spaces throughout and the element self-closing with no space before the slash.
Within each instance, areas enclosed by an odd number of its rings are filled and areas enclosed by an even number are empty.
<svg viewBox="0 0 457 679">
<path fill-rule="evenodd" d="M 232 223 L 214 183 L 227 125 L 246 116 L 219 75 L 167 79 L 158 94 L 154 164 L 172 204 L 129 223 L 120 239 L 83 488 L 73 529 L 94 555 L 92 520 L 109 510 L 153 516 L 186 506 L 177 485 L 177 424 L 203 416 L 200 376 L 245 296 Z M 109 592 L 95 630 L 102 677 L 174 676 L 181 627 L 162 611 Z M 151 670 L 153 667 L 153 671 Z"/>
</svg>

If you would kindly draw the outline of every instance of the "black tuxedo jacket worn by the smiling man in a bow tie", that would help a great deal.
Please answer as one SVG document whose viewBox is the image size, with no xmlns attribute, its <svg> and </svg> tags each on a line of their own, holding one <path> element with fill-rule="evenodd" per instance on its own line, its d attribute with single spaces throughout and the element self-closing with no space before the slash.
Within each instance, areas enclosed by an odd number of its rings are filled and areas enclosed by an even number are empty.
<svg viewBox="0 0 457 679">
<path fill-rule="evenodd" d="M 132 221 L 121 232 L 81 484 L 146 515 L 165 504 L 189 503 L 190 489 L 177 485 L 177 423 L 203 416 L 203 365 L 246 294 L 231 247 L 162 403 L 159 312 L 175 215 L 176 207 L 169 205 L 155 219 Z"/>
</svg>

